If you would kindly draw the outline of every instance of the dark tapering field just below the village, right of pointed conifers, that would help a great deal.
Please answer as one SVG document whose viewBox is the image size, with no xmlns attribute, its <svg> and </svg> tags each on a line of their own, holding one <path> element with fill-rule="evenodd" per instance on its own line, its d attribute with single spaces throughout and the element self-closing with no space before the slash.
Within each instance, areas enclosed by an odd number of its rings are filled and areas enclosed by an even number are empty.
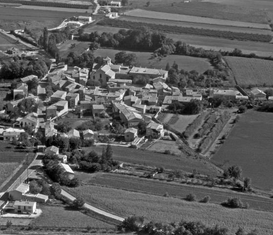
<svg viewBox="0 0 273 235">
<path fill-rule="evenodd" d="M 99 154 L 102 153 L 105 146 L 97 145 L 96 147 L 84 147 L 83 149 L 88 152 L 92 149 Z M 197 172 L 204 175 L 217 176 L 218 172 L 213 166 L 203 163 L 200 160 L 195 160 L 186 157 L 181 152 L 181 156 L 172 156 L 162 153 L 154 153 L 149 151 L 142 151 L 133 148 L 112 146 L 113 159 L 122 163 L 128 164 L 142 164 L 152 167 L 163 166 L 166 169 L 181 169 L 186 172 L 192 172 L 196 169 Z"/>
</svg>

